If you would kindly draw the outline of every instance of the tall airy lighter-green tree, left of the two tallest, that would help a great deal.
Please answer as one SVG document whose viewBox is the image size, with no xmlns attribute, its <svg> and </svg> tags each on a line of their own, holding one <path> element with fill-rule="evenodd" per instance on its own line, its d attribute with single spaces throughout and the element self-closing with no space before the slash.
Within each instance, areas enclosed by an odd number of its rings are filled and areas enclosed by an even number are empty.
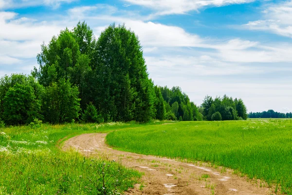
<svg viewBox="0 0 292 195">
<path fill-rule="evenodd" d="M 73 31 L 65 29 L 53 37 L 48 45 L 41 45 L 37 55 L 39 69 L 33 75 L 45 87 L 59 79 L 69 80 L 79 89 L 81 107 L 92 101 L 92 65 L 94 36 L 85 22 L 79 22 Z"/>
</svg>

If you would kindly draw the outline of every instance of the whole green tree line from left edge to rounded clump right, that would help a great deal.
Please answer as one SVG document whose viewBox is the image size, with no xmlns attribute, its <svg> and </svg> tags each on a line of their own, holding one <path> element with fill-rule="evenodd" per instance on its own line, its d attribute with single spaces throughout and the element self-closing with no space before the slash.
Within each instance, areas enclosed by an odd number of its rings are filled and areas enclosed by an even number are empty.
<svg viewBox="0 0 292 195">
<path fill-rule="evenodd" d="M 0 79 L 1 125 L 247 119 L 242 99 L 206 96 L 197 106 L 180 87 L 155 86 L 140 41 L 125 25 L 112 24 L 95 39 L 78 22 L 43 43 L 37 62 L 30 75 Z"/>
</svg>

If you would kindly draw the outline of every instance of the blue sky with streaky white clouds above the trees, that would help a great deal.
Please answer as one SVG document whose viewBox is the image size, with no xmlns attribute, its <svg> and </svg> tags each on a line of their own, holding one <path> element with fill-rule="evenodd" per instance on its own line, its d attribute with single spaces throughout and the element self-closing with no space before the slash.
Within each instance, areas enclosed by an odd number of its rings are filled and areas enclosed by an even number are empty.
<svg viewBox="0 0 292 195">
<path fill-rule="evenodd" d="M 0 0 L 0 77 L 38 68 L 40 45 L 85 20 L 139 37 L 154 84 L 292 112 L 292 0 Z"/>
</svg>

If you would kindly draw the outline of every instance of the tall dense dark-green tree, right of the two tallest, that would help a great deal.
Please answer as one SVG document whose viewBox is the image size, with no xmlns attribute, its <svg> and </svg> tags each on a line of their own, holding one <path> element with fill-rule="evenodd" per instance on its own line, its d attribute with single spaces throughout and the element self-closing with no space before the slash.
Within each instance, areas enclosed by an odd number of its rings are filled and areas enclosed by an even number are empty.
<svg viewBox="0 0 292 195">
<path fill-rule="evenodd" d="M 108 120 L 148 121 L 155 117 L 155 92 L 142 46 L 125 25 L 110 25 L 95 46 L 95 105 Z"/>
</svg>

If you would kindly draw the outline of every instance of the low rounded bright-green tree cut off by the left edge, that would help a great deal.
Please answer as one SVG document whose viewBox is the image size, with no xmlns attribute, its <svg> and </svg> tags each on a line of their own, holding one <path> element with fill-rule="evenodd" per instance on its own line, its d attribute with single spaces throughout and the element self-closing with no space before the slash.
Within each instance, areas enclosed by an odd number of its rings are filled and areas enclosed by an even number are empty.
<svg viewBox="0 0 292 195">
<path fill-rule="evenodd" d="M 31 77 L 12 74 L 0 79 L 0 114 L 8 125 L 29 124 L 42 118 L 43 87 Z"/>
</svg>

